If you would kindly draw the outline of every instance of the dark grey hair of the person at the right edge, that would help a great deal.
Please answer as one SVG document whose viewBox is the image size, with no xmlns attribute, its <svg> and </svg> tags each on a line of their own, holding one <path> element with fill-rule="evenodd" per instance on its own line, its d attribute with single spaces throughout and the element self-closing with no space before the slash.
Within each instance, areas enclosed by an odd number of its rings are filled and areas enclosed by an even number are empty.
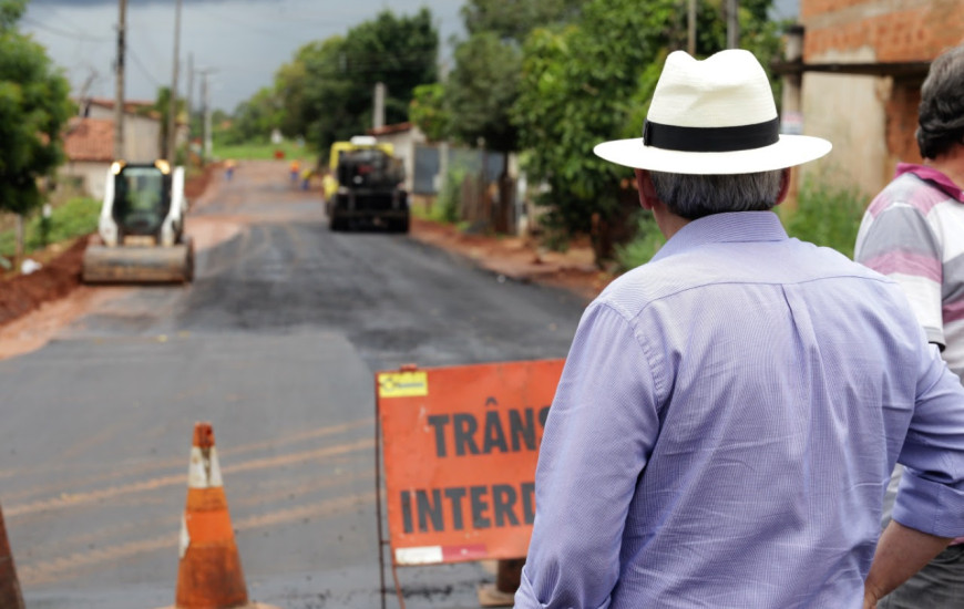
<svg viewBox="0 0 964 609">
<path fill-rule="evenodd" d="M 917 109 L 917 147 L 924 158 L 936 158 L 964 138 L 964 44 L 931 63 L 921 86 Z"/>
</svg>

